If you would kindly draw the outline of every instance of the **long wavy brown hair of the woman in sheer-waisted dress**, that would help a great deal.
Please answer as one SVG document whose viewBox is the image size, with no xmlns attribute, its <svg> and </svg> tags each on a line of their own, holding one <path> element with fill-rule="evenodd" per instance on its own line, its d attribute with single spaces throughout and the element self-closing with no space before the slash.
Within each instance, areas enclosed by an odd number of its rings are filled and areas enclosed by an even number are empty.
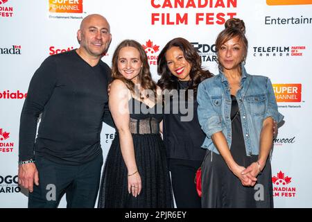
<svg viewBox="0 0 312 222">
<path fill-rule="evenodd" d="M 142 62 L 142 68 L 139 73 L 139 83 L 143 89 L 151 89 L 153 90 L 155 96 L 156 96 L 156 89 L 157 85 L 153 81 L 153 78 L 150 74 L 150 65 L 148 65 L 148 58 L 146 56 L 146 52 L 143 49 L 143 46 L 139 44 L 139 42 L 135 40 L 123 40 L 121 42 L 116 50 L 114 51 L 114 55 L 112 58 L 112 80 L 119 79 L 125 83 L 125 85 L 130 89 L 130 91 L 135 94 L 135 83 L 132 83 L 131 80 L 128 80 L 123 77 L 123 75 L 118 70 L 118 58 L 119 58 L 119 52 L 122 48 L 131 46 L 137 49 L 140 53 L 140 60 Z"/>
</svg>

